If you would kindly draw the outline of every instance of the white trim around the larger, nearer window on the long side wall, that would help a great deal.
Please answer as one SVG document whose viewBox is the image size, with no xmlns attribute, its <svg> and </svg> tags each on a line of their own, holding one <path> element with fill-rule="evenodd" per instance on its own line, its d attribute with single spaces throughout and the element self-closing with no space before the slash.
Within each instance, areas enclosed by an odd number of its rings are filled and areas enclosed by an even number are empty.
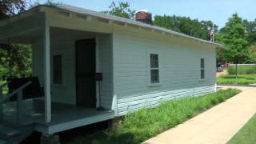
<svg viewBox="0 0 256 144">
<path fill-rule="evenodd" d="M 158 68 L 151 68 L 150 66 L 150 54 L 158 54 Z M 154 86 L 162 86 L 162 79 L 161 79 L 161 54 L 155 50 L 148 50 L 147 51 L 147 69 L 148 69 L 148 87 Z M 158 83 L 151 83 L 151 70 L 158 70 L 159 71 L 159 82 Z"/>
</svg>

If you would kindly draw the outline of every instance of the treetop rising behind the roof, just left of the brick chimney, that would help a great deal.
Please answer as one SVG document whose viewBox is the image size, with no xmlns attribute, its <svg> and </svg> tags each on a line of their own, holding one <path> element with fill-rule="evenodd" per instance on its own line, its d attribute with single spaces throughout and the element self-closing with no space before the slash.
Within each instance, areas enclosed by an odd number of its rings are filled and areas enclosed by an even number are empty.
<svg viewBox="0 0 256 144">
<path fill-rule="evenodd" d="M 130 3 L 128 2 L 112 2 L 109 6 L 110 10 L 104 11 L 106 14 L 112 14 L 122 18 L 134 18 L 135 10 L 130 9 Z"/>
</svg>

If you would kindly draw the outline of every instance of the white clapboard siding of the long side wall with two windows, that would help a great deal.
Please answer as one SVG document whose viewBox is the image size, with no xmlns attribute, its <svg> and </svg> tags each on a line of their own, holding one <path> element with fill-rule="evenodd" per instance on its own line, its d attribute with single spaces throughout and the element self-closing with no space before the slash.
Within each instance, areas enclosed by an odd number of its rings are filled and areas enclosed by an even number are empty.
<svg viewBox="0 0 256 144">
<path fill-rule="evenodd" d="M 161 34 L 159 34 L 161 35 Z M 164 37 L 164 36 L 162 36 Z M 170 38 L 170 37 L 169 37 Z M 215 48 L 185 40 L 152 38 L 147 34 L 117 30 L 114 33 L 114 94 L 117 114 L 186 96 L 215 90 Z M 149 86 L 148 54 L 157 52 L 160 86 Z M 206 78 L 200 80 L 200 58 L 205 58 Z"/>
</svg>

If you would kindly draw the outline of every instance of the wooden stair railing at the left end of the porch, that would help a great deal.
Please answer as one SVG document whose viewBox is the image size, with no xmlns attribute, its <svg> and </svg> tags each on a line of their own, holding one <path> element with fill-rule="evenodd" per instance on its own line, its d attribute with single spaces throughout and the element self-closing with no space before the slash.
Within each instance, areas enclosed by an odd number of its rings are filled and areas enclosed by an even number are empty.
<svg viewBox="0 0 256 144">
<path fill-rule="evenodd" d="M 10 102 L 10 98 L 13 98 L 15 95 L 17 95 L 17 101 L 16 101 L 16 122 L 21 123 L 22 122 L 22 116 L 23 116 L 23 108 L 22 108 L 22 97 L 23 97 L 23 90 L 26 88 L 26 86 L 30 86 L 32 82 L 26 82 L 24 85 L 20 86 L 18 89 L 10 91 L 9 94 L 2 94 L 3 88 L 8 85 L 8 82 L 0 86 L 0 120 L 3 120 L 4 116 L 4 109 L 3 104 L 6 102 Z"/>
</svg>

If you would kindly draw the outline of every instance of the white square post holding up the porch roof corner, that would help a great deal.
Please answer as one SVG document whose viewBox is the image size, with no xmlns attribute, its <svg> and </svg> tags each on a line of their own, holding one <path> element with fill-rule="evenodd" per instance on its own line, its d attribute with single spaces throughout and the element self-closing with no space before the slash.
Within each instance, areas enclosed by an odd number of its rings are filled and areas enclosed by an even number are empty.
<svg viewBox="0 0 256 144">
<path fill-rule="evenodd" d="M 45 26 L 43 31 L 43 58 L 44 58 L 44 90 L 45 90 L 45 122 L 50 122 L 50 26 Z"/>
</svg>

